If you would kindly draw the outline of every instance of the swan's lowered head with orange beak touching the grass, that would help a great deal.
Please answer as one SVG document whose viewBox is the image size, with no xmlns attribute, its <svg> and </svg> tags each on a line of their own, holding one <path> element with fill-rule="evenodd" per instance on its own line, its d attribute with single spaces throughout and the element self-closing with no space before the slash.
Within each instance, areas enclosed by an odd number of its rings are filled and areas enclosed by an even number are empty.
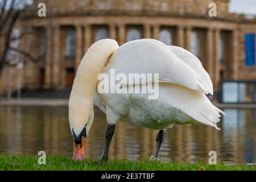
<svg viewBox="0 0 256 182">
<path fill-rule="evenodd" d="M 69 100 L 69 125 L 74 138 L 73 159 L 85 159 L 85 138 L 93 123 L 93 104 L 86 100 Z"/>
</svg>

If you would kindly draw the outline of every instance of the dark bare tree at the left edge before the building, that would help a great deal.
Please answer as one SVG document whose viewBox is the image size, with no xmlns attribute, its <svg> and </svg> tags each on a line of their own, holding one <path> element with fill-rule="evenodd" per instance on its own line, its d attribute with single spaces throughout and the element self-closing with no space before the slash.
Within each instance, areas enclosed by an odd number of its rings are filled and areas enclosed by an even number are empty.
<svg viewBox="0 0 256 182">
<path fill-rule="evenodd" d="M 22 13 L 26 10 L 28 0 L 0 0 L 0 76 L 5 65 L 10 65 L 7 59 L 8 52 L 14 51 L 19 55 L 23 55 L 31 61 L 37 61 L 38 58 L 33 57 L 30 52 L 17 47 L 12 47 L 12 43 L 22 39 L 27 34 L 34 34 L 32 31 L 20 33 L 18 36 L 12 36 L 15 25 L 22 17 Z"/>
</svg>

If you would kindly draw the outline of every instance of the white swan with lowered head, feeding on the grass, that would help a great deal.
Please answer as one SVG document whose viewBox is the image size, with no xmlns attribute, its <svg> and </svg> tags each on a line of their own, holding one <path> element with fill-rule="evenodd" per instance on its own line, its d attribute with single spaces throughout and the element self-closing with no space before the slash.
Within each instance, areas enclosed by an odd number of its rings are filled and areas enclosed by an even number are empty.
<svg viewBox="0 0 256 182">
<path fill-rule="evenodd" d="M 159 97 L 148 100 L 147 94 L 98 93 L 100 73 L 158 73 Z M 148 82 L 148 81 L 146 81 Z M 133 86 L 147 84 L 135 82 Z M 126 82 L 119 81 L 123 86 Z M 118 46 L 112 39 L 94 43 L 85 53 L 77 70 L 69 98 L 69 123 L 74 137 L 74 160 L 85 159 L 85 137 L 93 123 L 93 101 L 106 113 L 108 127 L 102 160 L 108 160 L 110 141 L 118 121 L 160 130 L 151 160 L 157 159 L 164 132 L 172 125 L 213 126 L 223 111 L 205 96 L 213 94 L 212 81 L 199 59 L 183 48 L 166 46 L 154 39 L 134 40 Z"/>
</svg>

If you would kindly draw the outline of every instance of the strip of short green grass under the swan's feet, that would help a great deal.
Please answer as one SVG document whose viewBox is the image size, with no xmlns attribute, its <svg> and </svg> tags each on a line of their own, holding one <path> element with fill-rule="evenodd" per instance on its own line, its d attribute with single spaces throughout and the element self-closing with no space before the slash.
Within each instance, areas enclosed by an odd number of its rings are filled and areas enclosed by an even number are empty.
<svg viewBox="0 0 256 182">
<path fill-rule="evenodd" d="M 197 164 L 178 164 L 164 162 L 149 162 L 148 160 L 129 161 L 110 160 L 101 162 L 96 159 L 84 162 L 73 162 L 72 158 L 62 156 L 47 156 L 46 165 L 38 164 L 38 156 L 31 155 L 0 155 L 0 170 L 256 170 L 256 166 L 245 165 L 225 166 L 224 164 L 209 165 L 203 162 Z"/>
</svg>

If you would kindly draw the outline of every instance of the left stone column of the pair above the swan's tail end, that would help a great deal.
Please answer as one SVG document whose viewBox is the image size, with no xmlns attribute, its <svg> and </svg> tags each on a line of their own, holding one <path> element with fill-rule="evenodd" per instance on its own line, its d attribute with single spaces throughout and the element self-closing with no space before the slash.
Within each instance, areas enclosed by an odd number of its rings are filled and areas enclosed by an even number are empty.
<svg viewBox="0 0 256 182">
<path fill-rule="evenodd" d="M 213 30 L 209 28 L 207 30 L 207 72 L 210 75 L 210 78 L 213 80 Z"/>
</svg>

